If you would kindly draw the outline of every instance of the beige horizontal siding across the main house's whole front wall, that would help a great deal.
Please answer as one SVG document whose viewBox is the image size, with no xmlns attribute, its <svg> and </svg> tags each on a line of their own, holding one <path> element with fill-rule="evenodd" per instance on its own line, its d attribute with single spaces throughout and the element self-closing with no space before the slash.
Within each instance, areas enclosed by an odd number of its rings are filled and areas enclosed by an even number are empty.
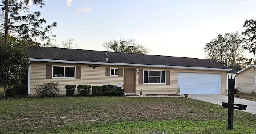
<svg viewBox="0 0 256 134">
<path fill-rule="evenodd" d="M 30 95 L 36 95 L 35 86 L 42 85 L 43 83 L 59 82 L 60 92 L 59 95 L 65 95 L 65 85 L 116 85 L 117 83 L 122 84 L 124 87 L 124 75 L 123 76 L 106 76 L 107 68 L 123 68 L 124 69 L 137 69 L 137 67 L 132 66 L 110 66 L 110 65 L 100 65 L 92 69 L 85 64 L 71 64 L 71 63 L 47 63 L 47 62 L 36 62 L 31 61 L 31 81 L 30 81 Z M 81 79 L 74 78 L 52 78 L 46 79 L 46 65 L 60 65 L 60 66 L 81 66 Z M 218 73 L 221 74 L 221 94 L 226 90 L 226 71 L 206 71 L 206 70 L 191 70 L 191 69 L 168 69 L 168 68 L 152 68 L 152 67 L 138 67 L 140 71 L 143 70 L 157 70 L 166 71 L 170 70 L 170 85 L 154 84 L 154 83 L 143 83 L 138 84 L 138 73 L 135 75 L 135 94 L 140 94 L 140 89 L 142 89 L 142 94 L 176 94 L 178 89 L 178 72 L 188 72 L 188 73 Z M 77 91 L 75 91 L 77 94 Z"/>
</svg>

